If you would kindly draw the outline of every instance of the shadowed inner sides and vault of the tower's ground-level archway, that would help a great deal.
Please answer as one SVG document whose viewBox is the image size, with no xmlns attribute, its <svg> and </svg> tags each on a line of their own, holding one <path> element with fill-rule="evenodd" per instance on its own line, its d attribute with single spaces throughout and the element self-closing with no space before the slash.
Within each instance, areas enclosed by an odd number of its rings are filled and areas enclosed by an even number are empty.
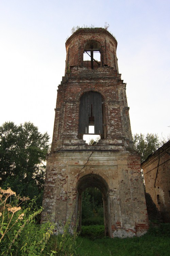
<svg viewBox="0 0 170 256">
<path fill-rule="evenodd" d="M 98 188 L 103 195 L 103 212 L 105 236 L 112 237 L 111 214 L 109 205 L 108 185 L 106 181 L 98 174 L 87 174 L 80 178 L 77 183 L 77 218 L 80 216 L 78 231 L 81 231 L 81 213 L 82 213 L 82 192 L 88 187 Z"/>
</svg>

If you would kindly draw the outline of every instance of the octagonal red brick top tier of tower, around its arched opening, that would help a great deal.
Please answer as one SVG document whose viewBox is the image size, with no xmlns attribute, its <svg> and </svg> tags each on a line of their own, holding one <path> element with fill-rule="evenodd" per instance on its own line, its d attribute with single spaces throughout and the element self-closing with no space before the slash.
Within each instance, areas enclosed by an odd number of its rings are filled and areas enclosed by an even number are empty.
<svg viewBox="0 0 170 256">
<path fill-rule="evenodd" d="M 101 44 L 101 53 L 103 56 L 102 66 L 108 65 L 118 70 L 116 48 L 117 41 L 107 30 L 97 29 L 79 29 L 66 41 L 66 70 L 70 66 L 83 66 L 84 44 L 88 40 L 95 40 Z"/>
</svg>

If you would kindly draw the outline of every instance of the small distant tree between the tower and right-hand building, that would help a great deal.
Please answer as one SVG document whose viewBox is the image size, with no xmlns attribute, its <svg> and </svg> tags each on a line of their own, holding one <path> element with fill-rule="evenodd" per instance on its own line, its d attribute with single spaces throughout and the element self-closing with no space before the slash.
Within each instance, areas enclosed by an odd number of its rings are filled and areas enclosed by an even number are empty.
<svg viewBox="0 0 170 256">
<path fill-rule="evenodd" d="M 160 146 L 160 140 L 157 134 L 136 133 L 133 136 L 134 150 L 141 155 L 141 162 L 143 162 L 150 154 L 156 151 Z"/>
</svg>

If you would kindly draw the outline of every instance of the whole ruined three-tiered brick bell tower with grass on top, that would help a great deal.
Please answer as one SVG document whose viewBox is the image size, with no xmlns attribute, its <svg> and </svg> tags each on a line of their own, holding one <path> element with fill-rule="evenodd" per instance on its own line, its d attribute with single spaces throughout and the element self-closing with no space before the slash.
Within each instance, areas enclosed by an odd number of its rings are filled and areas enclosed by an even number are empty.
<svg viewBox="0 0 170 256">
<path fill-rule="evenodd" d="M 46 213 L 56 223 L 71 217 L 75 224 L 80 216 L 81 230 L 81 194 L 97 187 L 103 195 L 105 235 L 132 237 L 147 231 L 148 215 L 116 48 L 116 39 L 103 28 L 78 29 L 66 41 L 42 221 Z M 85 54 L 90 60 L 83 59 Z M 96 145 L 83 140 L 90 127 L 101 138 Z"/>
</svg>

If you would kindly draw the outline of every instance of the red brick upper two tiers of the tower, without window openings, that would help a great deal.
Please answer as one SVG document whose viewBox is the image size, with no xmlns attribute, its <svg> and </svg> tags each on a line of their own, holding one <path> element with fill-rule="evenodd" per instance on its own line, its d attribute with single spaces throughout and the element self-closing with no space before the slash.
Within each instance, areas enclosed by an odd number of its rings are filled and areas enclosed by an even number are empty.
<svg viewBox="0 0 170 256">
<path fill-rule="evenodd" d="M 103 65 L 95 64 L 94 69 L 81 66 L 84 44 L 88 40 L 101 44 Z M 117 72 L 117 41 L 105 29 L 79 29 L 66 42 L 66 75 L 57 90 L 52 150 L 67 147 L 68 144 L 82 144 L 79 134 L 80 97 L 87 91 L 97 91 L 102 95 L 105 106 L 106 139 L 100 144 L 113 148 L 114 145 L 132 146 L 125 86 Z M 72 141 L 70 141 L 72 140 Z M 85 146 L 85 143 L 84 143 Z"/>
</svg>

